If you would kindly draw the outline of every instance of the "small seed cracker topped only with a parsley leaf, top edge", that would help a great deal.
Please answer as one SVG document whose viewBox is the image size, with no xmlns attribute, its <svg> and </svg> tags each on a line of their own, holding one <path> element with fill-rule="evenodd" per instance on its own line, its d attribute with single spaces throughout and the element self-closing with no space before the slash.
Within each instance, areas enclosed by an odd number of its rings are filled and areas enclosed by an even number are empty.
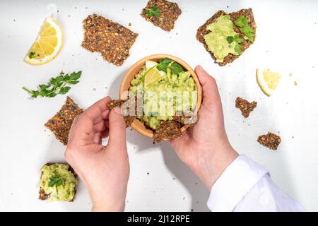
<svg viewBox="0 0 318 226">
<path fill-rule="evenodd" d="M 178 4 L 166 0 L 150 0 L 141 16 L 154 25 L 169 32 L 175 27 L 175 21 L 181 14 Z"/>
</svg>

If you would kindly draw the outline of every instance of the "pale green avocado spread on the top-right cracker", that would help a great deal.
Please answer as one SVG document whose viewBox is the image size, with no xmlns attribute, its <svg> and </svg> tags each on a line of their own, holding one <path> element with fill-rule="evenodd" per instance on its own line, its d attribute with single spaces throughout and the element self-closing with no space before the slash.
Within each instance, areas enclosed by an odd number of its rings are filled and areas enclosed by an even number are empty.
<svg viewBox="0 0 318 226">
<path fill-rule="evenodd" d="M 206 29 L 211 32 L 204 35 L 204 40 L 217 62 L 223 62 L 228 54 L 239 55 L 235 52 L 236 42 L 229 43 L 227 40 L 228 37 L 237 35 L 228 14 L 217 18 L 216 22 L 207 25 Z"/>
</svg>

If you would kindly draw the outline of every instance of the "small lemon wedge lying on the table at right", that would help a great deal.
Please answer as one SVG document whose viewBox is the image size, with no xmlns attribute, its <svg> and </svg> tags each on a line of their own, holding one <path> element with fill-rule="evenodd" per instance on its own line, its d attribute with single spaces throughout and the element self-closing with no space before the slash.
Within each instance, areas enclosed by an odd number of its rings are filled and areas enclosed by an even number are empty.
<svg viewBox="0 0 318 226">
<path fill-rule="evenodd" d="M 257 83 L 261 87 L 261 90 L 271 96 L 276 90 L 279 81 L 281 81 L 281 75 L 277 72 L 269 71 L 269 69 L 264 69 L 263 71 L 257 69 Z"/>
</svg>

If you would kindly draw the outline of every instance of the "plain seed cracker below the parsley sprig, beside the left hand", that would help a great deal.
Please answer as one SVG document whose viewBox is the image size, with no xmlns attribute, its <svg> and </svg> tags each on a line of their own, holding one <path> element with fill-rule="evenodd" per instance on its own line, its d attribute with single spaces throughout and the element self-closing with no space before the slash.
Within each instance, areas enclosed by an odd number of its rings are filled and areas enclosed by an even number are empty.
<svg viewBox="0 0 318 226">
<path fill-rule="evenodd" d="M 73 120 L 82 112 L 83 110 L 79 108 L 70 97 L 66 97 L 66 102 L 59 112 L 57 112 L 52 119 L 49 119 L 45 126 L 54 133 L 55 137 L 61 141 L 61 143 L 67 145 Z"/>
</svg>

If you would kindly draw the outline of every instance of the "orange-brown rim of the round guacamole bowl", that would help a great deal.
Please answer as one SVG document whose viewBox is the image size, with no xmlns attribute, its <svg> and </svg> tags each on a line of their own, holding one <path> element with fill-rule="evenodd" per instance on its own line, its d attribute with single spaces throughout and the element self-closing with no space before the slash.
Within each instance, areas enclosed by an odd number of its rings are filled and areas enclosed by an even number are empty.
<svg viewBox="0 0 318 226">
<path fill-rule="evenodd" d="M 122 83 L 121 83 L 120 88 L 119 88 L 119 99 L 124 99 L 124 97 L 122 97 L 122 93 L 127 91 L 127 89 L 125 89 L 124 86 L 126 84 L 128 77 L 131 76 L 131 73 L 136 69 L 136 67 L 138 67 L 140 65 L 142 67 L 146 63 L 147 60 L 158 61 L 158 59 L 163 59 L 165 57 L 172 59 L 172 61 L 175 61 L 178 64 L 180 64 L 184 69 L 189 71 L 191 73 L 192 78 L 194 78 L 194 82 L 196 83 L 196 90 L 198 92 L 197 100 L 196 100 L 196 109 L 194 111 L 194 114 L 197 114 L 197 112 L 199 111 L 199 109 L 201 107 L 201 102 L 202 102 L 202 88 L 201 88 L 201 84 L 199 82 L 199 78 L 198 78 L 198 76 L 196 76 L 196 73 L 194 72 L 192 67 L 189 66 L 189 64 L 187 64 L 182 59 L 179 59 L 178 57 L 172 56 L 170 54 L 153 54 L 153 55 L 150 55 L 148 57 L 143 57 L 139 61 L 136 61 L 136 63 L 133 64 L 128 69 L 128 71 L 125 73 L 124 78 L 122 79 Z M 136 74 L 134 75 L 134 77 L 135 76 L 136 76 Z M 130 84 L 130 82 L 131 81 L 129 81 L 129 84 Z M 190 126 L 191 125 L 189 125 L 189 124 L 182 126 L 182 128 L 181 128 L 182 133 L 184 133 L 184 131 L 186 131 Z M 137 131 L 138 133 L 141 133 L 141 135 L 143 135 L 143 136 L 147 136 L 148 138 L 153 138 L 153 135 L 154 135 L 153 130 L 148 129 L 139 120 L 134 120 L 134 122 L 131 124 L 131 128 L 134 129 L 135 131 Z"/>
</svg>

